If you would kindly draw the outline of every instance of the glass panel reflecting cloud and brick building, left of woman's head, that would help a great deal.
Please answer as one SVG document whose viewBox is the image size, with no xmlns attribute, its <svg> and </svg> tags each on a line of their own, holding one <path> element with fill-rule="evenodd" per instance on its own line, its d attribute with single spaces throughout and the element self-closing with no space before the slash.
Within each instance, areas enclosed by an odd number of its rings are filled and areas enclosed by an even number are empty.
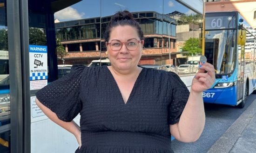
<svg viewBox="0 0 256 153">
<path fill-rule="evenodd" d="M 57 44 L 59 66 L 88 65 L 92 60 L 100 58 L 100 0 L 81 0 L 54 13 L 54 19 L 56 38 L 60 41 Z M 106 18 L 105 22 L 109 19 Z"/>
</svg>

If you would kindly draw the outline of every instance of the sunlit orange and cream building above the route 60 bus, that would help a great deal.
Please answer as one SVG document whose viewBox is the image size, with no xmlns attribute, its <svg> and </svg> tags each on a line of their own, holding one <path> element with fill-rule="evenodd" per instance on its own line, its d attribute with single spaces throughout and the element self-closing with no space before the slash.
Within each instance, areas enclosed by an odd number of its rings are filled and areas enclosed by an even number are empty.
<svg viewBox="0 0 256 153">
<path fill-rule="evenodd" d="M 206 12 L 238 11 L 256 29 L 256 0 L 205 0 Z"/>
</svg>

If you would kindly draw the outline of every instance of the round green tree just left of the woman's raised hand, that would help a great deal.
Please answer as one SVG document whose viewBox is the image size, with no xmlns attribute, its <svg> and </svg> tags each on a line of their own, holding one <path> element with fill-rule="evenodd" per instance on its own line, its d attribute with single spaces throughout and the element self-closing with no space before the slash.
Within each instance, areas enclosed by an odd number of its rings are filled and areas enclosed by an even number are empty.
<svg viewBox="0 0 256 153">
<path fill-rule="evenodd" d="M 198 38 L 189 38 L 182 46 L 182 51 L 189 51 L 189 55 L 201 54 L 202 48 L 199 46 Z"/>
</svg>

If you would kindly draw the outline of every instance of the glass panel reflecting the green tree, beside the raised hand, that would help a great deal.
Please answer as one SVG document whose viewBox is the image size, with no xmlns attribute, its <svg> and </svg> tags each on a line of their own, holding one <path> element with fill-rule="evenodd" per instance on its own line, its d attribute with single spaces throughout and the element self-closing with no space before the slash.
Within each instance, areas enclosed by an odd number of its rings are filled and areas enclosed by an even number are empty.
<svg viewBox="0 0 256 153">
<path fill-rule="evenodd" d="M 202 15 L 183 6 L 178 0 L 163 0 L 163 3 L 163 14 L 166 14 L 171 20 L 170 22 L 164 22 L 163 25 L 163 47 L 167 47 L 162 50 L 162 63 L 165 63 L 168 67 L 175 66 L 170 71 L 174 71 L 180 76 L 195 75 L 198 69 L 199 57 L 202 54 L 202 46 L 200 45 Z M 189 5 L 199 8 L 201 3 L 193 1 Z M 197 11 L 201 12 L 202 10 Z M 168 39 L 168 41 L 166 42 L 165 39 Z M 189 70 L 178 68 L 180 65 L 182 65 L 181 67 L 187 66 L 185 64 L 190 65 Z"/>
</svg>

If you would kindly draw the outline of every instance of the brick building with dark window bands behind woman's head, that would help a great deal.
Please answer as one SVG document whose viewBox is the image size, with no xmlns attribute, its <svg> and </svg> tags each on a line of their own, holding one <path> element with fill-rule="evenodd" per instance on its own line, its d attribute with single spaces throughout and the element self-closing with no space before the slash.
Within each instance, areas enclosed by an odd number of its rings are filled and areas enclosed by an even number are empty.
<svg viewBox="0 0 256 153">
<path fill-rule="evenodd" d="M 133 14 L 145 37 L 140 64 L 174 64 L 177 51 L 175 20 L 154 11 Z M 107 58 L 102 36 L 110 19 L 111 16 L 107 16 L 55 23 L 56 38 L 67 51 L 65 63 L 89 64 L 100 57 Z"/>
</svg>

